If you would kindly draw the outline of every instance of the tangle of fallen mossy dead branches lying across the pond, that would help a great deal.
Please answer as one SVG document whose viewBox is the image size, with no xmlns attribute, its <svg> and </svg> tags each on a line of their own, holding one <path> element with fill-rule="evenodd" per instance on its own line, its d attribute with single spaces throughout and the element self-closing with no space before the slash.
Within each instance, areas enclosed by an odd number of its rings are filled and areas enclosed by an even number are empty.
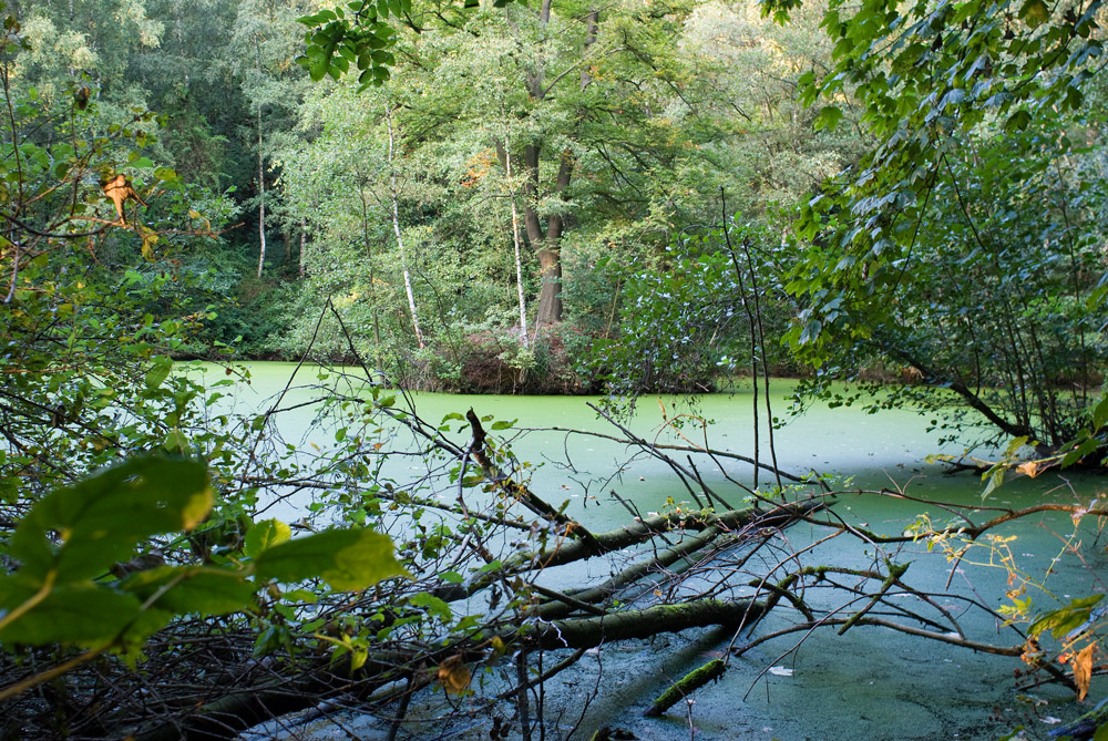
<svg viewBox="0 0 1108 741">
<path fill-rule="evenodd" d="M 249 616 L 171 626 L 144 649 L 135 671 L 105 656 L 43 685 L 38 694 L 16 698 L 4 708 L 0 735 L 16 729 L 17 737 L 54 738 L 63 723 L 65 733 L 78 738 L 225 739 L 264 721 L 295 728 L 306 717 L 351 711 L 387 719 L 403 738 L 401 731 L 418 735 L 420 718 L 425 721 L 427 708 L 434 707 L 442 709 L 443 722 L 472 725 L 473 718 L 495 714 L 500 738 L 519 738 L 525 716 L 535 737 L 545 729 L 554 738 L 565 728 L 558 724 L 564 717 L 585 724 L 589 699 L 605 686 L 601 673 L 592 694 L 573 693 L 557 717 L 544 694 L 547 687 L 563 680 L 583 687 L 579 676 L 603 672 L 602 657 L 608 659 L 605 647 L 613 642 L 711 626 L 726 628 L 731 642 L 719 659 L 680 669 L 678 676 L 688 673 L 663 692 L 667 702 L 707 691 L 736 657 L 749 659 L 753 647 L 774 641 L 779 647 L 792 636 L 799 640 L 783 649 L 787 656 L 814 631 L 864 635 L 880 628 L 1016 661 L 1026 638 L 1018 626 L 1006 628 L 1005 640 L 962 625 L 968 610 L 1003 619 L 995 603 L 914 587 L 907 579 L 924 569 L 905 564 L 921 559 L 923 545 L 978 547 L 986 533 L 1032 514 L 1054 511 L 1075 519 L 1108 514 L 1102 505 L 1043 503 L 989 512 L 943 504 L 953 525 L 905 532 L 897 523 L 883 534 L 837 511 L 831 496 L 807 496 L 809 483 L 774 488 L 767 493 L 771 502 L 760 492 L 745 494 L 739 474 L 724 472 L 726 483 L 706 482 L 697 470 L 707 470 L 705 461 L 720 467 L 748 463 L 733 453 L 625 435 L 618 440 L 628 450 L 646 451 L 674 471 L 673 502 L 659 514 L 640 516 L 622 492 L 632 517 L 604 532 L 587 521 L 588 510 L 560 504 L 564 487 L 531 481 L 530 470 L 496 439 L 497 428 L 486 430 L 475 411 L 448 418 L 464 420 L 451 432 L 445 421 L 420 418 L 403 394 L 387 404 L 368 401 L 367 394 L 360 390 L 334 400 L 336 424 L 350 426 L 349 444 L 321 453 L 332 456 L 319 471 L 267 480 L 257 466 L 235 483 L 277 492 L 276 500 L 288 496 L 281 486 L 310 491 L 319 522 L 299 523 L 304 528 L 342 519 L 371 523 L 392 537 L 410 580 L 359 593 L 319 588 L 302 601 L 293 586 L 281 591 L 274 585 Z M 353 429 L 350 414 L 367 409 L 370 421 Z M 400 433 L 411 440 L 397 442 Z M 677 452 L 700 457 L 678 461 Z M 388 469 L 389 456 L 406 465 Z M 763 461 L 756 463 L 767 470 Z M 784 482 L 800 478 L 780 474 Z M 603 491 L 614 485 L 602 481 Z M 782 494 L 787 503 L 777 501 Z M 911 500 L 903 492 L 851 493 L 886 495 Z M 720 504 L 729 501 L 737 506 Z M 920 512 L 936 506 L 915 502 Z M 798 523 L 803 532 L 790 534 Z M 824 547 L 832 542 L 834 548 Z M 914 552 L 901 550 L 913 543 Z M 848 565 L 839 560 L 842 553 Z M 910 599 L 897 599 L 904 597 Z M 944 609 L 946 600 L 958 609 Z M 781 617 L 771 630 L 763 621 L 769 614 Z M 267 637 L 273 637 L 268 644 Z M 58 660 L 31 652 L 25 662 L 0 666 L 0 685 Z M 1054 657 L 1037 660 L 1028 672 L 1066 680 Z M 560 678 L 562 672 L 571 673 Z M 474 676 L 482 682 L 471 681 Z M 444 690 L 475 697 L 462 702 Z"/>
</svg>

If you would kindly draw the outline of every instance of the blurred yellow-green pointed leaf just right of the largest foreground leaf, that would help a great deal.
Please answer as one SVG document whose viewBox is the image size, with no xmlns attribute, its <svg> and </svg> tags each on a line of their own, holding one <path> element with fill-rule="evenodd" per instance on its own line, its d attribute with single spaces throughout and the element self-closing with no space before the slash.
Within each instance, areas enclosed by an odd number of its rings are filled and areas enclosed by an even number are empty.
<svg viewBox="0 0 1108 741">
<path fill-rule="evenodd" d="M 263 579 L 302 582 L 322 577 L 332 589 L 365 589 L 381 579 L 407 576 L 392 541 L 368 529 L 331 529 L 281 543 L 255 560 Z"/>
</svg>

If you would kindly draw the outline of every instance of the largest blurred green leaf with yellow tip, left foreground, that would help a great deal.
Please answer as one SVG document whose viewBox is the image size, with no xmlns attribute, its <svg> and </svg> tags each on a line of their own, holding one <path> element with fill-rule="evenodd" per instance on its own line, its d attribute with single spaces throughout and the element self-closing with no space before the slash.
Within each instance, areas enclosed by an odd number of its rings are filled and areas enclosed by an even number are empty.
<svg viewBox="0 0 1108 741">
<path fill-rule="evenodd" d="M 51 570 L 59 585 L 99 576 L 145 538 L 195 527 L 212 498 L 202 463 L 137 459 L 43 497 L 16 528 L 9 553 L 20 574 L 39 583 Z"/>
</svg>

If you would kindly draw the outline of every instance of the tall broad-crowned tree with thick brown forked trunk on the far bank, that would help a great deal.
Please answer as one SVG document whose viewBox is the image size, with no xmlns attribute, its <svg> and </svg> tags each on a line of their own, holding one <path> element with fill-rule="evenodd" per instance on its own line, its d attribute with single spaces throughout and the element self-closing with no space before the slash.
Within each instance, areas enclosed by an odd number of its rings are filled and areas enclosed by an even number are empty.
<svg viewBox="0 0 1108 741">
<path fill-rule="evenodd" d="M 474 130 L 489 132 L 505 168 L 503 134 L 490 124 L 501 112 L 513 121 L 523 236 L 540 277 L 536 326 L 563 319 L 570 231 L 573 244 L 604 244 L 612 239 L 599 233 L 619 224 L 620 240 L 630 231 L 637 245 L 657 246 L 714 208 L 717 179 L 701 185 L 693 174 L 726 168 L 721 145 L 736 132 L 729 114 L 704 103 L 711 88 L 693 73 L 701 49 L 674 49 L 694 8 L 581 12 L 547 0 L 534 9 L 453 9 L 447 22 L 413 16 L 421 33 L 401 34 L 393 47 L 389 84 L 418 91 L 406 113 L 418 120 L 409 146 L 429 151 L 433 133 L 455 151 L 476 145 L 475 157 L 490 142 Z M 331 21 L 317 20 L 318 32 L 330 33 Z M 309 49 L 309 66 L 322 59 L 317 52 Z M 483 198 L 473 185 L 460 195 Z"/>
</svg>

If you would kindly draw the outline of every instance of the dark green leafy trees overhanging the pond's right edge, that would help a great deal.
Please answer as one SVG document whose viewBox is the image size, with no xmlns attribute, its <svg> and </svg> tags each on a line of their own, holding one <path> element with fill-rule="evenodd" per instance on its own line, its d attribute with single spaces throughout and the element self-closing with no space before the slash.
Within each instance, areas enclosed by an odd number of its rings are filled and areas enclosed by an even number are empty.
<svg viewBox="0 0 1108 741">
<path fill-rule="evenodd" d="M 960 398 L 968 414 L 947 426 L 1053 447 L 1087 422 L 1105 373 L 1101 14 L 832 3 L 834 65 L 806 75 L 802 96 L 833 127 L 849 93 L 878 143 L 797 223 L 788 288 L 807 307 L 789 341 L 823 378 L 904 367 Z"/>
</svg>

